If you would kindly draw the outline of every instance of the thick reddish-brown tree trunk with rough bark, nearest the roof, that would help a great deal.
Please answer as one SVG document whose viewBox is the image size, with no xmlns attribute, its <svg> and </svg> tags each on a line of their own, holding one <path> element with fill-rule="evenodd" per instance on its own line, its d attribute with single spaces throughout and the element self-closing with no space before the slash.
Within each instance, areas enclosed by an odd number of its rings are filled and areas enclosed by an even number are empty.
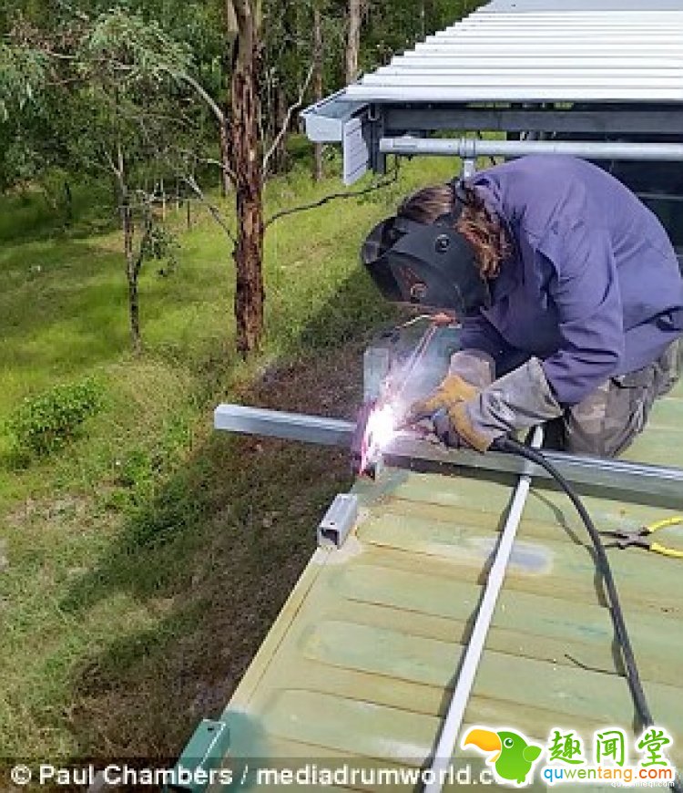
<svg viewBox="0 0 683 793">
<path fill-rule="evenodd" d="M 230 164 L 237 201 L 235 319 L 237 348 L 247 356 L 263 336 L 263 174 L 259 135 L 257 75 L 258 18 L 251 0 L 234 0 L 239 35 L 231 86 Z"/>
</svg>

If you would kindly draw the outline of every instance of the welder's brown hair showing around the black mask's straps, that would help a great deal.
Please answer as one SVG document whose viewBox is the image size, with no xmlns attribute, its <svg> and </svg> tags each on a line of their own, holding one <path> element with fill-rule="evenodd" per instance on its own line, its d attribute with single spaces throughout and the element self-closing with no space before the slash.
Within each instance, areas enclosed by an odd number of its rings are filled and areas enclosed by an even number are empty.
<svg viewBox="0 0 683 793">
<path fill-rule="evenodd" d="M 510 242 L 497 216 L 484 206 L 484 199 L 474 188 L 461 185 L 463 211 L 455 228 L 474 248 L 482 278 L 495 278 L 500 265 L 510 253 Z M 454 210 L 456 198 L 450 184 L 436 184 L 414 192 L 401 203 L 398 215 L 411 221 L 433 223 Z"/>
</svg>

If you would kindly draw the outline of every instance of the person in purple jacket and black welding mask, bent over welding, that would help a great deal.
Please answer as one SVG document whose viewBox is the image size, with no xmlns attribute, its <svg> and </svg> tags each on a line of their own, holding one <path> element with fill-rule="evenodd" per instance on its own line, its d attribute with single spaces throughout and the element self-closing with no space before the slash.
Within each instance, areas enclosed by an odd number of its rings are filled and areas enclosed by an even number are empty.
<svg viewBox="0 0 683 793">
<path fill-rule="evenodd" d="M 683 279 L 667 232 L 621 182 L 539 155 L 417 191 L 362 263 L 393 302 L 462 321 L 449 374 L 415 403 L 485 451 L 546 422 L 555 448 L 613 457 L 683 365 Z"/>
</svg>

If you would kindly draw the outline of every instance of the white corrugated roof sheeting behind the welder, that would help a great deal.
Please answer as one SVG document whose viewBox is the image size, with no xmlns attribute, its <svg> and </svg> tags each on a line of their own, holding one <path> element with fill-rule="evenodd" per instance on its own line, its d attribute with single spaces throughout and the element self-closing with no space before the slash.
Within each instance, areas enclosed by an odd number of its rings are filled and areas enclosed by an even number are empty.
<svg viewBox="0 0 683 793">
<path fill-rule="evenodd" d="M 683 0 L 494 0 L 345 98 L 683 102 Z"/>
</svg>

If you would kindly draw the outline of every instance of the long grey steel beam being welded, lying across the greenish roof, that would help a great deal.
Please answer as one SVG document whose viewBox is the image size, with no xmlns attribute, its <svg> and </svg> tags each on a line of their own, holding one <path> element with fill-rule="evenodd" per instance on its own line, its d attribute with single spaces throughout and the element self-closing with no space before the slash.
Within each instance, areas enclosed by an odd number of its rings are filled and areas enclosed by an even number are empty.
<svg viewBox="0 0 683 793">
<path fill-rule="evenodd" d="M 351 445 L 355 424 L 339 418 L 305 416 L 261 407 L 219 405 L 215 414 L 216 429 L 248 435 L 265 435 L 317 443 L 325 446 Z M 545 451 L 560 473 L 573 484 L 586 489 L 608 489 L 625 496 L 664 499 L 672 507 L 683 507 L 683 469 L 644 465 L 618 459 L 579 457 Z M 545 469 L 512 455 L 489 451 L 480 454 L 468 449 L 446 448 L 440 443 L 399 435 L 382 455 L 385 465 L 404 469 L 457 473 L 478 470 L 488 474 L 519 476 L 530 473 L 550 479 Z"/>
</svg>

